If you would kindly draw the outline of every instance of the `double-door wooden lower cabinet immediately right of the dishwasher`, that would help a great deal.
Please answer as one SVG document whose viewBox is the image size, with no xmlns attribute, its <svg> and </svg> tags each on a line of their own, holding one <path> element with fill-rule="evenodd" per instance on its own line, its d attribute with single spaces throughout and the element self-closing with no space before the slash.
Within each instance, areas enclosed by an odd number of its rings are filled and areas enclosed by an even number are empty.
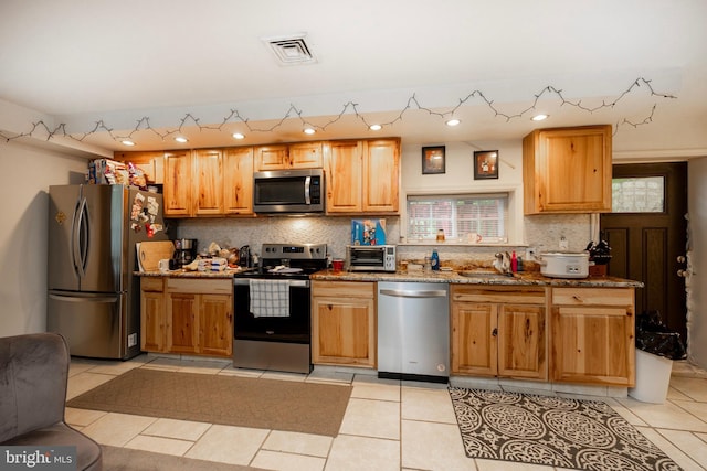
<svg viewBox="0 0 707 471">
<path fill-rule="evenodd" d="M 452 285 L 452 374 L 547 381 L 546 289 Z"/>
</svg>

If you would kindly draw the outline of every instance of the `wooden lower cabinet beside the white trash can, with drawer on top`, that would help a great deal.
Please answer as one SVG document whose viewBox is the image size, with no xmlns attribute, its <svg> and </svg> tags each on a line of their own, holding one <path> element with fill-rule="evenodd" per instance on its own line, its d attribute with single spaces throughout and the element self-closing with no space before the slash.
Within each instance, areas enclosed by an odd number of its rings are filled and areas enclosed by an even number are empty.
<svg viewBox="0 0 707 471">
<path fill-rule="evenodd" d="M 551 379 L 635 385 L 633 288 L 552 289 Z"/>
</svg>

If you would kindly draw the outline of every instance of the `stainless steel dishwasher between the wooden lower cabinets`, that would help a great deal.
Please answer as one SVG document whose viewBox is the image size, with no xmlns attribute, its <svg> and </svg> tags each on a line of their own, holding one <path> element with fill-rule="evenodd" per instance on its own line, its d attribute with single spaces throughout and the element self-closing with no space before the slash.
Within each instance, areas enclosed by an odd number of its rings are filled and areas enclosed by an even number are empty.
<svg viewBox="0 0 707 471">
<path fill-rule="evenodd" d="M 450 376 L 447 283 L 378 283 L 378 376 L 446 383 Z"/>
</svg>

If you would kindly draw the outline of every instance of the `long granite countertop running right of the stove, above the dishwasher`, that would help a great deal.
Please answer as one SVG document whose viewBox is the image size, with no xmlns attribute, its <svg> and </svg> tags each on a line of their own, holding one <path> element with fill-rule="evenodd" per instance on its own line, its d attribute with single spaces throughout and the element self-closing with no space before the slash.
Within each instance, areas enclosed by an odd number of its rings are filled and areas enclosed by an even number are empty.
<svg viewBox="0 0 707 471">
<path fill-rule="evenodd" d="M 485 271 L 487 274 L 487 271 Z M 614 277 L 588 278 L 549 278 L 539 271 L 524 271 L 510 276 L 466 277 L 456 271 L 395 271 L 395 272 L 349 272 L 321 270 L 312 276 L 313 280 L 321 281 L 420 281 L 446 282 L 466 285 L 494 286 L 549 286 L 549 287 L 591 287 L 591 288 L 643 288 L 641 281 Z"/>
</svg>

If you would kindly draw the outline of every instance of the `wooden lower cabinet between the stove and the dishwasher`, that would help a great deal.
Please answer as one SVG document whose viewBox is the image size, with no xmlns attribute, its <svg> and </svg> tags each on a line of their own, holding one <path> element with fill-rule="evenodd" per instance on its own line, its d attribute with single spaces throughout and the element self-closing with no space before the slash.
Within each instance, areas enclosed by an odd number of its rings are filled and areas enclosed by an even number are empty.
<svg viewBox="0 0 707 471">
<path fill-rule="evenodd" d="M 376 283 L 312 282 L 312 362 L 377 366 Z"/>
</svg>

